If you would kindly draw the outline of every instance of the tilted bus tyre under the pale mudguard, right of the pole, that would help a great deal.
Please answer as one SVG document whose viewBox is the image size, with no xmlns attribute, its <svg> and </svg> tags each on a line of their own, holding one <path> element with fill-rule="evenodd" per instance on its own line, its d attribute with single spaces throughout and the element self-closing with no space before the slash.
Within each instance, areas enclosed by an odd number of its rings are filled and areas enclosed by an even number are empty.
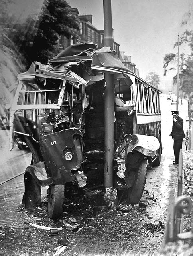
<svg viewBox="0 0 193 256">
<path fill-rule="evenodd" d="M 144 159 L 142 160 L 142 162 L 140 162 L 138 170 L 136 170 L 135 177 L 134 177 L 134 185 L 129 191 L 130 204 L 134 205 L 139 203 L 144 191 L 144 186 L 146 184 L 146 175 L 147 175 L 147 159 Z"/>
</svg>

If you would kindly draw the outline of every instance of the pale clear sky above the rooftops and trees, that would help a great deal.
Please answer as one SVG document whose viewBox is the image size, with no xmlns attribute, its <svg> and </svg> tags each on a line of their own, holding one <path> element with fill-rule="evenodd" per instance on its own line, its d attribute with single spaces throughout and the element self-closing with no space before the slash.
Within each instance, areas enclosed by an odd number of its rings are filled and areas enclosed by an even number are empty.
<svg viewBox="0 0 193 256">
<path fill-rule="evenodd" d="M 79 14 L 92 14 L 93 25 L 103 30 L 103 0 L 66 0 L 77 7 Z M 111 0 L 114 41 L 120 50 L 131 56 L 139 74 L 146 78 L 149 72 L 160 76 L 160 85 L 169 84 L 177 70 L 163 76 L 165 54 L 177 53 L 173 48 L 187 13 L 193 10 L 192 0 Z M 184 49 L 179 48 L 182 53 Z M 186 50 L 187 51 L 187 50 Z"/>
</svg>

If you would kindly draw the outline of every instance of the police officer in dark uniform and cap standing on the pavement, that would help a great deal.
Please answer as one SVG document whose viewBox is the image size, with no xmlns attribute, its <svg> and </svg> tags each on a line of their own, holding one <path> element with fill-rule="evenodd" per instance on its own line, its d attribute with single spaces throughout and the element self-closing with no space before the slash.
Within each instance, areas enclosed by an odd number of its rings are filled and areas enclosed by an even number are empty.
<svg viewBox="0 0 193 256">
<path fill-rule="evenodd" d="M 175 161 L 173 164 L 178 164 L 179 159 L 179 151 L 182 148 L 182 141 L 185 138 L 185 134 L 183 131 L 183 119 L 179 117 L 179 111 L 171 111 L 173 116 L 173 126 L 172 132 L 169 136 L 173 138 L 173 151 L 175 156 Z"/>
</svg>

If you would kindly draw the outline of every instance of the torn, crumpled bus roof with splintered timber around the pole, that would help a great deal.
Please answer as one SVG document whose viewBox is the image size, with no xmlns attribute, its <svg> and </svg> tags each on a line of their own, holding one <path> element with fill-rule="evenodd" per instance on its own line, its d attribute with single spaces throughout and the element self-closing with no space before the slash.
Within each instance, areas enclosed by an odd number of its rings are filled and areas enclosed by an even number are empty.
<svg viewBox="0 0 193 256">
<path fill-rule="evenodd" d="M 87 86 L 89 81 L 87 82 L 74 72 L 70 72 L 71 67 L 73 65 L 77 66 L 78 64 L 83 64 L 85 69 L 86 66 L 89 66 L 91 70 L 103 73 L 111 72 L 122 74 L 123 77 L 128 75 L 138 77 L 134 72 L 124 66 L 116 52 L 114 50 L 111 51 L 110 47 L 103 47 L 97 50 L 96 44 L 80 43 L 67 47 L 53 59 L 49 60 L 47 65 L 43 65 L 40 62 L 33 62 L 28 71 L 18 75 L 18 80 L 32 80 L 35 79 L 35 77 L 44 77 L 66 79 L 75 84 L 85 84 L 85 86 Z M 156 88 L 156 90 L 160 91 L 158 88 Z"/>
</svg>

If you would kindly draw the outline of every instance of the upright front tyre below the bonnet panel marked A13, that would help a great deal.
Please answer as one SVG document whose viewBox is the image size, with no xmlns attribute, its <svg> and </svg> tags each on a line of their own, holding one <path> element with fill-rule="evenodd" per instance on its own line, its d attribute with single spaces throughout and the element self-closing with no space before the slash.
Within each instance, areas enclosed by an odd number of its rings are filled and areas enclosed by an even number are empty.
<svg viewBox="0 0 193 256">
<path fill-rule="evenodd" d="M 48 189 L 48 214 L 51 219 L 59 218 L 63 211 L 65 200 L 65 185 L 49 185 Z"/>
</svg>

